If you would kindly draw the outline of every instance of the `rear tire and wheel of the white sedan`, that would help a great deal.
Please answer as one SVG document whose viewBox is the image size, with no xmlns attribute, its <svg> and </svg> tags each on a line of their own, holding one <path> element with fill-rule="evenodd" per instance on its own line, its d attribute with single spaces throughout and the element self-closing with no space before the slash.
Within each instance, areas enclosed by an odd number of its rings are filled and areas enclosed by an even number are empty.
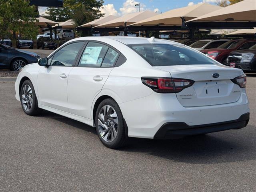
<svg viewBox="0 0 256 192">
<path fill-rule="evenodd" d="M 112 149 L 126 145 L 126 124 L 118 104 L 113 99 L 105 99 L 99 104 L 94 120 L 102 144 Z"/>
</svg>

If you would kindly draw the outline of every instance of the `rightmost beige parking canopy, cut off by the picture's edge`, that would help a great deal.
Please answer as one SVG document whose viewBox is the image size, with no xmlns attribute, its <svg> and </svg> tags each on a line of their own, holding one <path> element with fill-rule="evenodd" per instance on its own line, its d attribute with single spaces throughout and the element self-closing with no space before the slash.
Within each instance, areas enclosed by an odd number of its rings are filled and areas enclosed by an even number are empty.
<svg viewBox="0 0 256 192">
<path fill-rule="evenodd" d="M 256 21 L 256 1 L 243 0 L 220 10 L 210 12 L 188 22 L 252 22 Z"/>
</svg>

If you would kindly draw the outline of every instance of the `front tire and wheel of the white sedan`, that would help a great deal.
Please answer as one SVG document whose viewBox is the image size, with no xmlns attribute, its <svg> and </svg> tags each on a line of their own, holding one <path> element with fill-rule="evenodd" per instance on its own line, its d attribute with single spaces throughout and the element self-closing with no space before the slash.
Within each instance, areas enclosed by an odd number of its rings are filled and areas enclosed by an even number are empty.
<svg viewBox="0 0 256 192">
<path fill-rule="evenodd" d="M 34 86 L 30 80 L 24 81 L 20 88 L 20 103 L 27 115 L 34 116 L 42 112 L 42 109 L 38 108 Z"/>
</svg>

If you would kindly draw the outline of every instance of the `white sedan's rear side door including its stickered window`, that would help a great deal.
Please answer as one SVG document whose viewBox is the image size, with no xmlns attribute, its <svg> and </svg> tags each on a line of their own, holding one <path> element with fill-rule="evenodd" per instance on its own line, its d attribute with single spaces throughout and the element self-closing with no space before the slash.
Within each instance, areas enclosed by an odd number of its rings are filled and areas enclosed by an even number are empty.
<svg viewBox="0 0 256 192">
<path fill-rule="evenodd" d="M 77 67 L 68 77 L 70 113 L 91 119 L 92 102 L 100 93 L 120 52 L 99 42 L 88 42 Z"/>
</svg>

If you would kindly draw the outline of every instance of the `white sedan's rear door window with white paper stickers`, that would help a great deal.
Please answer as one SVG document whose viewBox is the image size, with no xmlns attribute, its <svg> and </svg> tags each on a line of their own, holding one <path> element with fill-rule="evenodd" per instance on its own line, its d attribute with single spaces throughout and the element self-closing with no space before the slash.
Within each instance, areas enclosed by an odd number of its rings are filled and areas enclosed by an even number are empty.
<svg viewBox="0 0 256 192">
<path fill-rule="evenodd" d="M 108 51 L 108 48 L 108 46 L 101 43 L 88 42 L 78 66 L 100 67 Z M 109 62 L 107 60 L 105 62 L 106 65 L 109 65 Z"/>
</svg>

